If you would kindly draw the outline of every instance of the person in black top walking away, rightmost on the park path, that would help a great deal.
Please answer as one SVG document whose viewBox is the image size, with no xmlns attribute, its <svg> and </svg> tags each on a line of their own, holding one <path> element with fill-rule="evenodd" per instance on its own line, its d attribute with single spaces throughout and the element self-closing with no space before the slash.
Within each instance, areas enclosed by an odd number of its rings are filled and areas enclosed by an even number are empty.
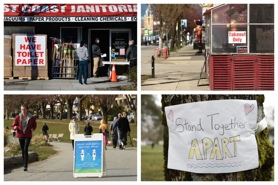
<svg viewBox="0 0 278 185">
<path fill-rule="evenodd" d="M 122 112 L 122 117 L 118 121 L 118 128 L 120 130 L 120 142 L 122 144 L 122 150 L 125 150 L 125 145 L 127 145 L 127 132 L 130 136 L 130 127 L 129 127 L 129 121 L 126 118 L 127 113 Z"/>
</svg>

